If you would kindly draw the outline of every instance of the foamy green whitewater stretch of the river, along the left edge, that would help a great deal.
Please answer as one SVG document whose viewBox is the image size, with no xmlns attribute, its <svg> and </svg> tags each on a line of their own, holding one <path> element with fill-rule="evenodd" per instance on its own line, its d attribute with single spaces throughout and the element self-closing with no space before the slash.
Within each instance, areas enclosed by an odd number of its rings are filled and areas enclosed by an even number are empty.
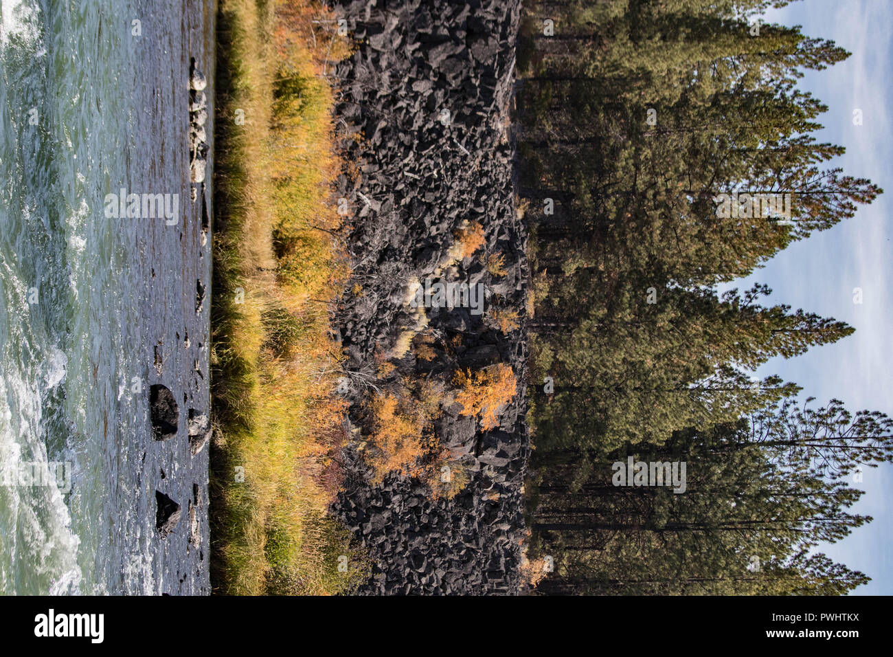
<svg viewBox="0 0 893 657">
<path fill-rule="evenodd" d="M 111 553 L 107 563 L 116 560 L 114 510 L 104 512 L 114 476 L 109 445 L 96 427 L 106 417 L 113 422 L 113 409 L 90 375 L 96 373 L 91 366 L 99 366 L 104 380 L 113 363 L 102 350 L 120 340 L 120 326 L 103 321 L 115 274 L 97 246 L 107 227 L 93 221 L 88 198 L 109 173 L 104 166 L 117 164 L 110 159 L 101 166 L 94 157 L 113 152 L 104 137 L 121 126 L 89 130 L 96 119 L 79 105 L 102 92 L 93 78 L 84 85 L 79 57 L 99 47 L 102 13 L 122 7 L 100 0 L 70 11 L 51 3 L 46 9 L 54 21 L 45 25 L 41 6 L 38 0 L 0 0 L 0 79 L 8 85 L 0 83 L 0 110 L 13 117 L 0 126 L 0 184 L 7 190 L 0 198 L 0 467 L 18 472 L 22 466 L 41 482 L 0 485 L 0 594 L 104 593 L 96 576 L 110 571 L 97 572 L 96 561 L 101 552 Z M 60 58 L 66 53 L 71 62 Z M 110 49 L 98 61 L 113 67 L 115 57 Z M 98 80 L 101 85 L 101 73 Z M 50 132 L 47 142 L 22 118 L 35 105 L 41 119 L 48 117 L 40 123 Z M 28 154 L 47 144 L 52 164 L 45 168 L 46 159 Z M 58 216 L 64 216 L 61 225 L 54 222 Z M 102 363 L 84 353 L 87 336 L 100 346 Z M 71 464 L 70 493 L 50 476 L 58 461 Z"/>
</svg>

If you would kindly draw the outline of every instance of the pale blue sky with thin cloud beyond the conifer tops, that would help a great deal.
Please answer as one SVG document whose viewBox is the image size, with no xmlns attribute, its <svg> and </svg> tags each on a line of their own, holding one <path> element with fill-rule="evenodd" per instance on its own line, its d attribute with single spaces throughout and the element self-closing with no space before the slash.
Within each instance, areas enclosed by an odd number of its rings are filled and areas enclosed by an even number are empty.
<svg viewBox="0 0 893 657">
<path fill-rule="evenodd" d="M 814 406 L 839 399 L 851 412 L 872 409 L 893 417 L 891 18 L 889 0 L 800 0 L 766 13 L 766 22 L 801 25 L 806 36 L 832 39 L 852 53 L 824 71 L 806 72 L 799 87 L 829 108 L 819 119 L 824 128 L 815 133 L 816 139 L 847 148 L 826 166 L 842 166 L 848 175 L 869 178 L 886 193 L 872 205 L 860 206 L 852 219 L 795 242 L 755 274 L 723 289 L 743 291 L 762 282 L 772 288 L 764 305 L 786 303 L 855 327 L 854 334 L 835 344 L 814 347 L 790 360 L 773 358 L 757 375 L 777 374 L 798 383 L 802 397 L 816 398 Z M 855 110 L 861 110 L 862 125 L 854 124 Z M 861 288 L 861 304 L 855 303 L 855 288 Z M 818 552 L 872 577 L 853 594 L 893 594 L 893 465 L 864 468 L 863 482 L 850 483 L 865 491 L 850 512 L 872 516 L 873 521 Z"/>
</svg>

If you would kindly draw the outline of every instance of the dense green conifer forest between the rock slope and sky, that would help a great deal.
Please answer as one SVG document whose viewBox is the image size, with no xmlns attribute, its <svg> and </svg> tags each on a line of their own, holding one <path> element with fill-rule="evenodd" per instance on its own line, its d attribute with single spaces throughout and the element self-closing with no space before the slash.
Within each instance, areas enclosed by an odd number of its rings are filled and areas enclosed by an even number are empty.
<svg viewBox="0 0 893 657">
<path fill-rule="evenodd" d="M 524 5 L 528 516 L 532 554 L 554 564 L 541 594 L 843 594 L 868 579 L 814 548 L 871 520 L 851 511 L 856 483 L 891 460 L 893 422 L 755 378 L 853 328 L 769 303 L 765 285 L 718 290 L 881 192 L 833 164 L 843 148 L 814 137 L 827 107 L 797 88 L 848 53 L 759 21 L 783 4 Z M 685 492 L 617 485 L 628 459 L 630 473 L 685 463 Z"/>
</svg>

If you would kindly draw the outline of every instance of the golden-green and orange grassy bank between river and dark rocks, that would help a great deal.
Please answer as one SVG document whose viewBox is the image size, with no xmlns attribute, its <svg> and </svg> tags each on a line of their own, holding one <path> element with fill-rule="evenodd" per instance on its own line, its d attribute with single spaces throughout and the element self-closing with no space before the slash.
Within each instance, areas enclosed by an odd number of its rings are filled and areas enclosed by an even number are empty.
<svg viewBox="0 0 893 657">
<path fill-rule="evenodd" d="M 345 407 L 330 301 L 332 91 L 346 54 L 310 2 L 221 0 L 212 392 L 212 578 L 225 594 L 334 594 L 363 577 L 326 516 Z M 346 557 L 346 560 L 342 557 Z M 346 563 L 346 572 L 344 565 Z M 341 567 L 339 569 L 339 566 Z"/>
</svg>

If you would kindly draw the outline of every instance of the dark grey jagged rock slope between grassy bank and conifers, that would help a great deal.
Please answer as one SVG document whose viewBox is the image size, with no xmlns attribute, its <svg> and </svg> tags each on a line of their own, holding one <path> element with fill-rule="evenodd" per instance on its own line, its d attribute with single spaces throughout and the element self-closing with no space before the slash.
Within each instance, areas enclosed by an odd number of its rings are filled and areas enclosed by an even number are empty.
<svg viewBox="0 0 893 657">
<path fill-rule="evenodd" d="M 337 316 L 354 373 L 351 417 L 362 415 L 364 382 L 382 353 L 401 374 L 428 381 L 504 363 L 518 387 L 488 430 L 445 397 L 435 434 L 470 477 L 455 497 L 434 499 L 407 476 L 372 484 L 353 442 L 344 453 L 346 492 L 333 511 L 370 553 L 361 593 L 513 594 L 525 536 L 528 350 L 521 327 L 492 320 L 494 309 L 523 316 L 528 295 L 510 124 L 520 3 L 356 0 L 336 12 L 358 46 L 337 69 L 346 160 L 359 169 L 342 175 L 338 190 L 353 216 L 351 292 Z M 363 139 L 350 139 L 357 132 Z M 498 266 L 455 257 L 456 232 L 469 223 L 482 226 L 480 252 Z M 407 290 L 426 279 L 483 284 L 485 312 L 431 307 L 420 320 Z M 432 336 L 430 359 L 396 347 L 421 324 Z"/>
</svg>

